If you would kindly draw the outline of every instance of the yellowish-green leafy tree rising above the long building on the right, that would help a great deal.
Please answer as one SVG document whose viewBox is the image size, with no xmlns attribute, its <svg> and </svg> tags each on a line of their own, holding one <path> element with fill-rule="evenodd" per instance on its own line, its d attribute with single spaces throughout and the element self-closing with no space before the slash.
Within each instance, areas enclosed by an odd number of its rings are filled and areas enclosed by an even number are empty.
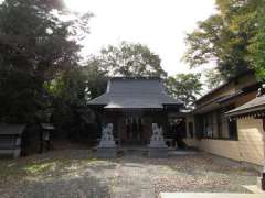
<svg viewBox="0 0 265 198">
<path fill-rule="evenodd" d="M 188 34 L 184 59 L 191 67 L 215 62 L 223 79 L 253 68 L 248 45 L 257 32 L 257 10 L 263 0 L 216 0 L 218 13 Z"/>
</svg>

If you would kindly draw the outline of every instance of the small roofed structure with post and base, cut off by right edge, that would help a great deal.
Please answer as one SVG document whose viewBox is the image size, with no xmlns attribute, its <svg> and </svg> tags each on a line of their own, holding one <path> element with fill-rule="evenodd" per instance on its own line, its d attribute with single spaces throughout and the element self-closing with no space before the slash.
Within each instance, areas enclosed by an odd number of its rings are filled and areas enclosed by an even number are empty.
<svg viewBox="0 0 265 198">
<path fill-rule="evenodd" d="M 264 167 L 261 178 L 258 179 L 258 186 L 265 190 L 265 86 L 258 89 L 256 98 L 243 106 L 240 106 L 239 108 L 229 111 L 226 114 L 230 117 L 230 119 L 243 119 L 246 117 L 252 117 L 263 120 Z"/>
</svg>

